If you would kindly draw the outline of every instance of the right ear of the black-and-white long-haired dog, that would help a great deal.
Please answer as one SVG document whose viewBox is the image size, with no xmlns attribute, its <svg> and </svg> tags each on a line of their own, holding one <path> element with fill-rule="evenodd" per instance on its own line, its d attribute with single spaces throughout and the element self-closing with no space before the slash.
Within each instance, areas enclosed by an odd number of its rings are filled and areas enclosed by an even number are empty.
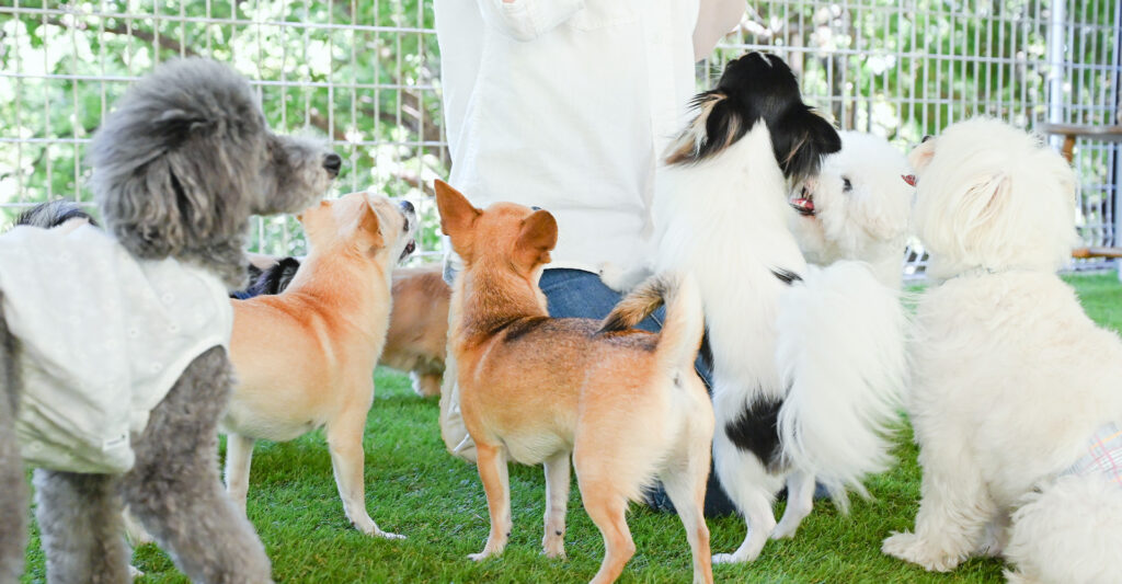
<svg viewBox="0 0 1122 584">
<path fill-rule="evenodd" d="M 806 105 L 792 108 L 770 130 L 775 160 L 794 182 L 818 174 L 822 157 L 842 149 L 834 126 Z"/>
</svg>

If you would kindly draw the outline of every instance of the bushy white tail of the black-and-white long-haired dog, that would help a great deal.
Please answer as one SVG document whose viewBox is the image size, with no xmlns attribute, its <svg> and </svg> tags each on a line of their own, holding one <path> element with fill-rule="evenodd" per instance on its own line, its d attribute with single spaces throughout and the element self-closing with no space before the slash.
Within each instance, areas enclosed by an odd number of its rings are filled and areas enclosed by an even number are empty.
<svg viewBox="0 0 1122 584">
<path fill-rule="evenodd" d="M 907 383 L 899 290 L 865 263 L 810 267 L 781 297 L 776 359 L 790 390 L 779 412 L 783 457 L 845 510 L 846 490 L 889 467 Z"/>
</svg>

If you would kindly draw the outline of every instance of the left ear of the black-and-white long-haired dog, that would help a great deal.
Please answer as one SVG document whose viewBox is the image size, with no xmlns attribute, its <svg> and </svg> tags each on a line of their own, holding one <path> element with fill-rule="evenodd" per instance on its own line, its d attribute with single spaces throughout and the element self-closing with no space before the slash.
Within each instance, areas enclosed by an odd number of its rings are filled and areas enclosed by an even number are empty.
<svg viewBox="0 0 1122 584">
<path fill-rule="evenodd" d="M 670 143 L 665 156 L 668 165 L 701 160 L 724 150 L 748 131 L 743 111 L 720 90 L 698 94 L 690 108 L 697 113 Z"/>
</svg>

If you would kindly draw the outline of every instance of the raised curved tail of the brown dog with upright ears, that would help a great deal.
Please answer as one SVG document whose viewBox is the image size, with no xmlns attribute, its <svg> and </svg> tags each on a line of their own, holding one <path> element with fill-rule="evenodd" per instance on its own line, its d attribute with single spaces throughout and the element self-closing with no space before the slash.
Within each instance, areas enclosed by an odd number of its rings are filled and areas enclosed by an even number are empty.
<svg viewBox="0 0 1122 584">
<path fill-rule="evenodd" d="M 656 274 L 638 285 L 604 318 L 599 333 L 633 328 L 663 304 L 666 318 L 655 356 L 668 368 L 692 367 L 705 333 L 701 293 L 689 274 Z"/>
</svg>

